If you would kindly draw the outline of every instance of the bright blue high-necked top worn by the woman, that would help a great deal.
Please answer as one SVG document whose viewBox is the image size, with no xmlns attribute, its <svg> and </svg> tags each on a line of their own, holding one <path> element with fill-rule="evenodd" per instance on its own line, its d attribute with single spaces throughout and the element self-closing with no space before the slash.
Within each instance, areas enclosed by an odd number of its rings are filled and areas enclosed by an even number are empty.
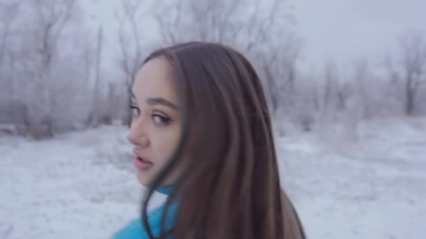
<svg viewBox="0 0 426 239">
<path fill-rule="evenodd" d="M 158 191 L 163 194 L 170 194 L 172 187 L 163 187 Z M 151 228 L 151 233 L 153 236 L 160 236 L 161 230 L 161 219 L 163 217 L 163 212 L 165 210 L 165 203 L 160 205 L 160 207 L 148 212 L 148 223 Z M 165 220 L 165 231 L 172 229 L 174 226 L 174 217 L 177 212 L 177 203 L 171 203 L 167 211 L 167 216 Z M 124 226 L 123 229 L 118 231 L 112 239 L 149 239 L 149 235 L 145 230 L 144 225 L 142 224 L 142 219 L 134 219 L 132 222 Z"/>
</svg>

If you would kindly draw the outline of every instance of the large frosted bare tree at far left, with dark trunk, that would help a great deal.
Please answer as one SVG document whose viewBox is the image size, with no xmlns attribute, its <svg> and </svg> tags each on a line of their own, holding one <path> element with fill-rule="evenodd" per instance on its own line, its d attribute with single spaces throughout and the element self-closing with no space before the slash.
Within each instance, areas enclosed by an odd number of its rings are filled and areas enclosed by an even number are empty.
<svg viewBox="0 0 426 239">
<path fill-rule="evenodd" d="M 28 109 L 29 129 L 53 136 L 78 118 L 75 113 L 85 108 L 81 102 L 88 95 L 81 92 L 87 80 L 81 61 L 85 48 L 76 47 L 82 45 L 77 41 L 82 43 L 78 35 L 83 27 L 73 24 L 79 20 L 79 8 L 76 0 L 25 0 L 20 6 L 8 61 L 19 99 Z M 81 107 L 72 107 L 76 105 Z"/>
</svg>

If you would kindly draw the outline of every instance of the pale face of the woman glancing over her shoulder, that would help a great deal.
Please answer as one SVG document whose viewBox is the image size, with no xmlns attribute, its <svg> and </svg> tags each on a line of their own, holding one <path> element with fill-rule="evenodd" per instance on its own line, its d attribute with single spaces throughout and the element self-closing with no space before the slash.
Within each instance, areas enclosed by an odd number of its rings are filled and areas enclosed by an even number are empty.
<svg viewBox="0 0 426 239">
<path fill-rule="evenodd" d="M 133 119 L 128 140 L 135 146 L 137 180 L 144 186 L 169 162 L 181 137 L 179 99 L 172 66 L 164 57 L 149 60 L 137 73 L 132 87 Z M 177 166 L 163 181 L 174 184 Z"/>
</svg>

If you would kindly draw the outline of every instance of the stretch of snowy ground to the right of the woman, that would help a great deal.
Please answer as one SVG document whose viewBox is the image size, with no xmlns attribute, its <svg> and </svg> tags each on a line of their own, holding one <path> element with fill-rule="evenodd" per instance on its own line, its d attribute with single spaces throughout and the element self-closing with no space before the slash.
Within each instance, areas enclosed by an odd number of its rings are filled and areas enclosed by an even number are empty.
<svg viewBox="0 0 426 239">
<path fill-rule="evenodd" d="M 356 135 L 279 140 L 309 238 L 426 238 L 426 119 L 367 122 Z"/>
</svg>

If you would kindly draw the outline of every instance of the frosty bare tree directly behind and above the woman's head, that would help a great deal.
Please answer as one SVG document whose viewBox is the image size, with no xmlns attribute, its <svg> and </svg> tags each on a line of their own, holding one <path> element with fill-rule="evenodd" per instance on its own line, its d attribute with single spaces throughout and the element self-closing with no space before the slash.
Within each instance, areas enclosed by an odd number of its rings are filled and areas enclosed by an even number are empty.
<svg viewBox="0 0 426 239">
<path fill-rule="evenodd" d="M 286 0 L 163 1 L 154 17 L 165 45 L 183 41 L 224 43 L 249 56 L 266 85 L 275 114 L 291 105 L 301 41 L 289 31 Z"/>
</svg>

